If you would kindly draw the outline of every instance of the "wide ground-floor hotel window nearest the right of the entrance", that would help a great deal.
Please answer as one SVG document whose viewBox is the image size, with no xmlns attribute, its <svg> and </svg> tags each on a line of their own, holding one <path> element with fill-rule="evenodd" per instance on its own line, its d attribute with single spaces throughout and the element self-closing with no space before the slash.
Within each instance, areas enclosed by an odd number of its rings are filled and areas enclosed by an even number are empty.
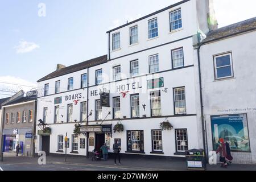
<svg viewBox="0 0 256 182">
<path fill-rule="evenodd" d="M 128 151 L 144 151 L 143 130 L 127 131 L 127 150 Z"/>
</svg>

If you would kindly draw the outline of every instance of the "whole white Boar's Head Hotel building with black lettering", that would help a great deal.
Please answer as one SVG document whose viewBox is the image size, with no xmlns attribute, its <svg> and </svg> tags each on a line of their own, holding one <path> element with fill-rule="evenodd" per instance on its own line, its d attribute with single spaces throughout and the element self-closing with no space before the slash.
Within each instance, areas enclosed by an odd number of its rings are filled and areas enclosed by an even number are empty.
<svg viewBox="0 0 256 182">
<path fill-rule="evenodd" d="M 104 142 L 121 143 L 122 154 L 184 156 L 203 148 L 197 50 L 193 44 L 215 27 L 212 1 L 186 0 L 107 32 L 108 55 L 41 78 L 38 120 L 51 133 L 37 132 L 36 152 L 88 154 Z M 110 107 L 100 105 L 100 93 L 109 93 Z M 89 115 L 90 111 L 92 115 Z M 110 114 L 109 114 L 110 112 Z M 76 137 L 76 123 L 88 137 Z M 159 125 L 169 121 L 172 130 Z M 124 130 L 113 132 L 117 123 Z M 38 127 L 38 131 L 40 128 Z M 89 132 L 90 130 L 90 132 Z"/>
</svg>

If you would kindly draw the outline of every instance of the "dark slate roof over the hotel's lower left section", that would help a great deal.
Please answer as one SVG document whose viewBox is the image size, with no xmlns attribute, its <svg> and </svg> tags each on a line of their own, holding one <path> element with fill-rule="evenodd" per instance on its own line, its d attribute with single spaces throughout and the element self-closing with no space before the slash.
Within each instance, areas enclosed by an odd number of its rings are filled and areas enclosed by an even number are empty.
<svg viewBox="0 0 256 182">
<path fill-rule="evenodd" d="M 108 55 L 96 57 L 94 59 L 90 59 L 90 60 L 87 60 L 87 61 L 84 61 L 84 62 L 78 63 L 78 64 L 73 64 L 69 67 L 65 67 L 65 68 L 59 69 L 57 71 L 54 71 L 54 72 L 50 73 L 49 75 L 38 80 L 38 82 L 44 81 L 44 80 L 49 80 L 51 78 L 55 78 L 55 77 L 62 76 L 62 75 L 67 75 L 68 73 L 77 72 L 77 71 L 80 71 L 82 69 L 86 69 L 89 67 L 94 67 L 96 65 L 106 63 L 107 61 L 108 61 Z"/>
</svg>

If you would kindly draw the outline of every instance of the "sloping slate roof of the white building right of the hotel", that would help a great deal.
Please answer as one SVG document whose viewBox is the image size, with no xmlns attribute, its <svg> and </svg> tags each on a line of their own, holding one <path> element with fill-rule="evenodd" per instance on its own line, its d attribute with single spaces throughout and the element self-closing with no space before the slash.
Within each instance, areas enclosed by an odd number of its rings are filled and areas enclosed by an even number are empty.
<svg viewBox="0 0 256 182">
<path fill-rule="evenodd" d="M 227 38 L 229 36 L 253 30 L 256 30 L 256 17 L 211 31 L 208 33 L 207 38 L 203 40 L 203 43 L 212 42 L 214 40 Z"/>
</svg>

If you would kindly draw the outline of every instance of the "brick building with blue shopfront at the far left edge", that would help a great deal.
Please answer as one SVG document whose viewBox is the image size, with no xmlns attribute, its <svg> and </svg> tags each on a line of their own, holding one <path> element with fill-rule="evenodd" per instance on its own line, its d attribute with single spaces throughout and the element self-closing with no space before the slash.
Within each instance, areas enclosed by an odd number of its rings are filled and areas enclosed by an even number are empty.
<svg viewBox="0 0 256 182">
<path fill-rule="evenodd" d="M 33 94 L 33 97 L 31 95 Z M 2 104 L 1 147 L 3 155 L 13 155 L 20 145 L 20 155 L 34 154 L 36 94 L 29 92 L 24 97 L 21 90 Z"/>
</svg>

